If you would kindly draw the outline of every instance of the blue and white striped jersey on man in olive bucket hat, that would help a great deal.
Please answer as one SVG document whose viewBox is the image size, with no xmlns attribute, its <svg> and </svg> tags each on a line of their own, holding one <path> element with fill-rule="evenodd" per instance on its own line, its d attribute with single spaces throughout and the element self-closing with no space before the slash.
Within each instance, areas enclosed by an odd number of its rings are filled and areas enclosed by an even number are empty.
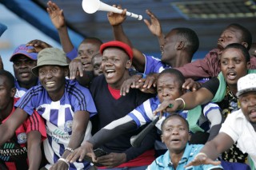
<svg viewBox="0 0 256 170">
<path fill-rule="evenodd" d="M 32 114 L 36 109 L 46 120 L 47 140 L 44 140 L 46 158 L 54 164 L 62 156 L 70 142 L 74 113 L 87 111 L 90 117 L 97 113 L 90 91 L 78 84 L 77 81 L 66 80 L 65 92 L 59 101 L 51 101 L 46 89 L 37 85 L 29 89 L 15 104 Z M 85 139 L 91 136 L 91 123 L 87 125 Z M 89 163 L 70 164 L 70 169 L 82 169 Z"/>
</svg>

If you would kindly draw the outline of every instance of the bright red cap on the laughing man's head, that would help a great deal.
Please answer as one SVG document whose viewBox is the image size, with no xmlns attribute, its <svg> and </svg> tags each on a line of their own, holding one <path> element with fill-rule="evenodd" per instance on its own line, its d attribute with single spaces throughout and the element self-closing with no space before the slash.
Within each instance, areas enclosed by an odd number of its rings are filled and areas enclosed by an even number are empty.
<svg viewBox="0 0 256 170">
<path fill-rule="evenodd" d="M 100 47 L 100 52 L 103 53 L 104 49 L 109 47 L 118 47 L 120 49 L 123 49 L 130 57 L 130 60 L 132 60 L 134 57 L 133 49 L 130 48 L 130 45 L 127 45 L 124 42 L 118 42 L 118 41 L 111 41 L 111 42 L 106 42 L 102 44 Z"/>
</svg>

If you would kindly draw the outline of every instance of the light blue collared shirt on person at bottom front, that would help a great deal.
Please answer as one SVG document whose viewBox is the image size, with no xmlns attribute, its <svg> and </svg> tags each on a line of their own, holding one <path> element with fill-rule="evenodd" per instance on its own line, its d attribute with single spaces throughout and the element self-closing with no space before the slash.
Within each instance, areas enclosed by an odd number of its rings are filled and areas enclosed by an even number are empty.
<svg viewBox="0 0 256 170">
<path fill-rule="evenodd" d="M 202 169 L 214 169 L 214 168 L 222 168 L 221 165 L 212 165 L 212 164 L 201 164 L 198 166 L 190 166 L 187 168 L 184 168 L 184 166 L 190 161 L 194 160 L 194 157 L 200 152 L 202 149 L 203 144 L 186 144 L 185 151 L 183 153 L 182 159 L 178 162 L 178 166 L 176 170 L 202 170 Z M 170 152 L 169 150 L 162 156 L 159 156 L 152 164 L 150 164 L 147 168 L 147 170 L 161 170 L 161 169 L 168 169 L 172 170 L 175 169 L 173 167 L 173 164 L 170 160 Z"/>
</svg>

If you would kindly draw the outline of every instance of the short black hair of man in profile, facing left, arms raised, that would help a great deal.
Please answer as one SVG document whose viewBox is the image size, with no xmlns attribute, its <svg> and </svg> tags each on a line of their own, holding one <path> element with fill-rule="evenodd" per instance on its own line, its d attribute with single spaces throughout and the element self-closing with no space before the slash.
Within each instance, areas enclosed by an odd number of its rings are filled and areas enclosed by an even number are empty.
<svg viewBox="0 0 256 170">
<path fill-rule="evenodd" d="M 178 36 L 186 39 L 190 47 L 190 53 L 194 54 L 199 48 L 199 38 L 198 35 L 190 28 L 178 27 L 173 30 L 177 31 Z"/>
</svg>

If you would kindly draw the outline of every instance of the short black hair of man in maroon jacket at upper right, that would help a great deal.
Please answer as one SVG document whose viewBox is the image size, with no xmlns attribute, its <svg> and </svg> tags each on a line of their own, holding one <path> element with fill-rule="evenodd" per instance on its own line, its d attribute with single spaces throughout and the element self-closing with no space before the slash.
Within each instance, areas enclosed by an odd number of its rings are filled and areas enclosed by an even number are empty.
<svg viewBox="0 0 256 170">
<path fill-rule="evenodd" d="M 227 26 L 226 28 L 230 28 L 230 27 L 235 28 L 236 30 L 240 30 L 242 32 L 242 40 L 241 41 L 242 42 L 247 42 L 247 44 L 248 44 L 247 49 L 249 50 L 250 49 L 250 45 L 253 42 L 253 38 L 252 38 L 252 36 L 250 34 L 250 31 L 247 30 L 245 27 L 237 24 L 237 23 L 232 23 L 229 26 Z"/>
</svg>

